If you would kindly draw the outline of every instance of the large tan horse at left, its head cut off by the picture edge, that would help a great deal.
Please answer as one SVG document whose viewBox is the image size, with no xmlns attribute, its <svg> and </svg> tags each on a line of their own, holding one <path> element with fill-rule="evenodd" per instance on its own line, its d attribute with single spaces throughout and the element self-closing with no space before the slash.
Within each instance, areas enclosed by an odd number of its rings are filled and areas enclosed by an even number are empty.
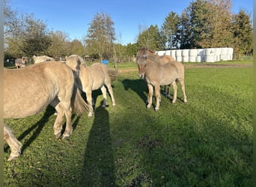
<svg viewBox="0 0 256 187">
<path fill-rule="evenodd" d="M 75 78 L 73 70 L 58 61 L 16 70 L 4 69 L 4 119 L 28 117 L 52 105 L 58 111 L 53 125 L 55 138 L 61 137 L 64 116 L 66 128 L 62 138 L 70 137 L 72 112 L 80 115 L 88 111 L 88 104 L 82 98 Z M 7 124 L 4 124 L 4 141 L 10 147 L 8 161 L 18 157 L 22 144 Z"/>
</svg>

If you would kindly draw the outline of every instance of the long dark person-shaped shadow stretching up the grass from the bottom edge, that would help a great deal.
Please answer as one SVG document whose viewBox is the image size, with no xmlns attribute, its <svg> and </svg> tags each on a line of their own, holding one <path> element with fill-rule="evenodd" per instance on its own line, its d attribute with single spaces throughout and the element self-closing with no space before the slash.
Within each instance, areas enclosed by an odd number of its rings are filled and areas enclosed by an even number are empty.
<svg viewBox="0 0 256 187">
<path fill-rule="evenodd" d="M 112 138 L 109 130 L 109 112 L 101 105 L 95 108 L 81 171 L 82 186 L 114 186 Z"/>
</svg>

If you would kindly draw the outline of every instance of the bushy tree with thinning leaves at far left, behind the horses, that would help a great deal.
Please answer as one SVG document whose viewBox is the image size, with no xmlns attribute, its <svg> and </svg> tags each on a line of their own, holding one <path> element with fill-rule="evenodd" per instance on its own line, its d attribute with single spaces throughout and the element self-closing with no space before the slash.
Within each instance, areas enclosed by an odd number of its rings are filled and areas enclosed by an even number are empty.
<svg viewBox="0 0 256 187">
<path fill-rule="evenodd" d="M 35 19 L 32 14 L 14 19 L 11 33 L 4 36 L 7 53 L 15 58 L 21 56 L 44 55 L 51 44 L 46 24 Z"/>
</svg>

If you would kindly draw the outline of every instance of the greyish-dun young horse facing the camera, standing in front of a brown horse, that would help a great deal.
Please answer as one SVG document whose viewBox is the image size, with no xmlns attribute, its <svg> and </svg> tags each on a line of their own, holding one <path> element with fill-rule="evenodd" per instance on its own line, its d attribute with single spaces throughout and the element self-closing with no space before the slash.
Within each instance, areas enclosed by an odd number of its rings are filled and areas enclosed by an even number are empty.
<svg viewBox="0 0 256 187">
<path fill-rule="evenodd" d="M 181 84 L 183 91 L 184 102 L 186 100 L 184 75 L 180 75 L 177 66 L 173 62 L 161 64 L 159 59 L 154 55 L 142 55 L 137 58 L 138 73 L 141 79 L 145 79 L 147 82 L 148 95 L 147 95 L 147 108 L 152 105 L 153 87 L 155 88 L 156 94 L 156 107 L 155 110 L 159 110 L 160 105 L 160 85 L 172 85 L 174 88 L 174 99 L 173 103 L 177 99 L 177 84 L 178 80 Z"/>
</svg>

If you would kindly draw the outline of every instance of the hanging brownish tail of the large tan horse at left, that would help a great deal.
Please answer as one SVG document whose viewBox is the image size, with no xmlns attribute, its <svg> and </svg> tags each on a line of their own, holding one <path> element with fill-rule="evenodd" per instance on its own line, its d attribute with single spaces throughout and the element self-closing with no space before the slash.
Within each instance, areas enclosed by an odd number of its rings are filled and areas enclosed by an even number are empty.
<svg viewBox="0 0 256 187">
<path fill-rule="evenodd" d="M 72 111 L 78 115 L 82 115 L 83 113 L 85 113 L 85 111 L 89 111 L 89 105 L 82 98 L 81 91 L 79 90 L 76 82 L 73 88 L 71 107 L 72 107 Z"/>
</svg>

